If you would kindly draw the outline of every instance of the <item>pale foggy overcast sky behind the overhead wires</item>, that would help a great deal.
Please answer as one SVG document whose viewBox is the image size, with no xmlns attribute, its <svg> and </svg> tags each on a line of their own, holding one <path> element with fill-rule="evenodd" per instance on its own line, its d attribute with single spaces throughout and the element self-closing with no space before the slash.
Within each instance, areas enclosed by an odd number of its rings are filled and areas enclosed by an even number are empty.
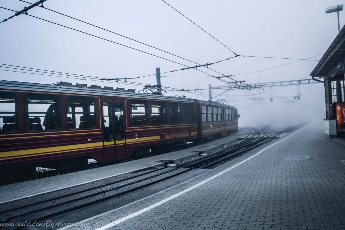
<svg viewBox="0 0 345 230">
<path fill-rule="evenodd" d="M 29 0 L 27 0 L 29 1 Z M 29 1 L 33 2 L 33 1 Z M 227 47 L 240 55 L 284 58 L 309 58 L 324 54 L 338 33 L 337 14 L 325 14 L 325 8 L 342 4 L 340 0 L 327 1 L 171 1 L 171 6 L 185 14 L 200 27 L 212 34 Z M 139 40 L 200 64 L 215 62 L 233 56 L 228 49 L 208 36 L 193 23 L 181 16 L 161 0 L 148 1 L 87 1 L 47 0 L 44 5 L 58 12 L 96 24 L 102 28 Z M 0 6 L 21 10 L 27 3 L 16 0 L 1 0 Z M 125 44 L 157 56 L 182 63 L 192 62 L 149 48 L 85 23 L 69 19 L 57 13 L 35 7 L 29 14 L 57 22 L 99 37 Z M 0 19 L 8 18 L 13 12 L 0 9 Z M 339 13 L 341 27 L 345 22 L 344 11 Z M 167 60 L 150 56 L 118 44 L 72 31 L 55 24 L 26 15 L 20 15 L 0 24 L 0 63 L 38 69 L 54 70 L 104 78 L 138 77 L 154 74 L 156 67 L 161 72 L 184 68 Z M 312 58 L 319 60 L 321 56 Z M 236 80 L 246 83 L 279 80 L 297 80 L 307 77 L 317 61 L 299 61 L 282 67 L 251 74 L 270 67 L 293 62 L 294 60 L 236 57 L 210 66 L 222 74 L 235 75 Z M 8 68 L 1 68 L 7 69 Z M 198 68 L 211 75 L 219 74 L 205 67 Z M 13 70 L 13 69 L 12 69 Z M 22 70 L 17 70 L 22 71 Z M 182 78 L 162 77 L 163 86 L 184 89 L 205 89 L 212 86 L 226 86 L 214 78 L 202 77 L 207 74 L 194 69 L 161 74 Z M 139 90 L 140 86 L 128 86 L 110 82 L 95 82 L 79 79 L 40 76 L 27 73 L 0 71 L 1 80 L 54 83 L 67 81 L 113 86 Z M 229 80 L 229 79 L 228 79 Z M 156 84 L 156 77 L 131 81 Z M 252 99 L 265 98 L 269 105 L 268 88 L 250 92 L 233 90 L 215 99 L 229 99 L 235 106 L 253 104 Z M 304 85 L 300 104 L 316 103 L 324 110 L 323 84 Z M 214 91 L 221 92 L 221 91 Z M 203 95 L 200 95 L 203 93 Z M 188 97 L 207 100 L 208 90 L 197 94 L 168 91 L 167 95 L 183 94 Z M 260 93 L 256 96 L 248 94 Z M 293 101 L 296 87 L 274 88 L 274 97 L 282 103 Z M 206 96 L 206 97 L 205 97 Z M 214 100 L 215 100 L 214 99 Z M 234 101 L 236 100 L 236 101 Z M 257 102 L 255 102 L 257 104 Z"/>
</svg>

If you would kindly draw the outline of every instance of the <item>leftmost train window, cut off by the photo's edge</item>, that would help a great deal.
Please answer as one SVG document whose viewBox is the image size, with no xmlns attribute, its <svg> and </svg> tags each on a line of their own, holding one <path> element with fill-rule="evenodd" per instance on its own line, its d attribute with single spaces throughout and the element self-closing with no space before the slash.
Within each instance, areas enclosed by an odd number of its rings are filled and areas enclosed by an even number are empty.
<svg viewBox="0 0 345 230">
<path fill-rule="evenodd" d="M 0 134 L 16 131 L 16 94 L 0 92 Z"/>
</svg>

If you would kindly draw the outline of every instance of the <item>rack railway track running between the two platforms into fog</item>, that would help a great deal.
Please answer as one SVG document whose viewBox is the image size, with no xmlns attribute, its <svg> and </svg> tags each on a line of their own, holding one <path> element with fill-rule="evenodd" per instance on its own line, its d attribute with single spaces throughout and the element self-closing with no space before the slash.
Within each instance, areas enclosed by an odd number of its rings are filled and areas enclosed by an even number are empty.
<svg viewBox="0 0 345 230">
<path fill-rule="evenodd" d="M 298 127 L 290 127 L 265 135 L 268 128 L 248 128 L 246 137 L 236 144 L 205 157 L 179 164 L 174 168 L 151 168 L 143 172 L 125 174 L 2 204 L 0 205 L 0 229 L 23 229 L 26 223 L 41 223 L 47 220 L 57 222 L 59 219 L 66 219 L 68 222 L 77 222 L 87 219 L 107 211 L 108 206 L 112 210 L 114 206 L 121 207 L 135 199 L 144 198 L 193 178 L 214 164 L 251 150 L 273 140 L 281 133 L 290 132 Z M 3 226 L 4 224 L 7 226 Z M 40 226 L 37 229 L 52 228 Z"/>
</svg>

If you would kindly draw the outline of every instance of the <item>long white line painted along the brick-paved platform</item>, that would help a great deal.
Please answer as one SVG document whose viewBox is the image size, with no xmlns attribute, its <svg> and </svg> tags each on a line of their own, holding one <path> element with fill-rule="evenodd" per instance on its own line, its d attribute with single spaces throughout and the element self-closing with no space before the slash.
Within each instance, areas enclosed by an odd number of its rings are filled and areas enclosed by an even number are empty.
<svg viewBox="0 0 345 230">
<path fill-rule="evenodd" d="M 206 180 L 203 180 L 203 181 L 201 181 L 201 182 L 198 183 L 198 184 L 195 184 L 194 186 L 191 186 L 191 187 L 189 187 L 189 188 L 187 188 L 187 189 L 185 189 L 185 190 L 183 190 L 183 191 L 181 191 L 181 192 L 178 192 L 178 193 L 176 193 L 176 194 L 174 194 L 174 195 L 172 195 L 172 196 L 170 196 L 170 197 L 168 197 L 168 198 L 166 198 L 166 199 L 164 199 L 164 200 L 161 200 L 161 201 L 159 201 L 159 202 L 157 202 L 157 203 L 154 203 L 154 204 L 150 205 L 149 207 L 146 207 L 146 208 L 144 208 L 144 209 L 141 209 L 141 210 L 139 210 L 139 211 L 137 211 L 137 212 L 134 212 L 134 213 L 132 213 L 132 214 L 126 216 L 126 217 L 123 217 L 123 218 L 121 218 L 121 219 L 119 219 L 119 220 L 116 220 L 116 221 L 114 221 L 114 222 L 111 222 L 111 223 L 109 223 L 109 224 L 107 224 L 107 225 L 105 225 L 105 226 L 102 226 L 102 227 L 100 227 L 100 228 L 97 228 L 97 229 L 95 229 L 95 230 L 105 230 L 105 229 L 108 229 L 108 228 L 113 227 L 113 226 L 115 226 L 115 225 L 117 225 L 117 224 L 120 224 L 120 223 L 122 223 L 122 222 L 124 222 L 124 221 L 126 221 L 126 220 L 128 220 L 128 219 L 131 219 L 131 218 L 133 218 L 133 217 L 139 216 L 140 214 L 142 214 L 142 213 L 144 213 L 144 212 L 146 212 L 146 211 L 148 211 L 148 210 L 151 210 L 151 209 L 153 209 L 153 208 L 155 208 L 155 207 L 157 207 L 157 206 L 160 206 L 161 204 L 164 204 L 165 202 L 168 202 L 168 201 L 170 201 L 170 200 L 172 200 L 172 199 L 174 199 L 174 198 L 176 198 L 176 197 L 179 197 L 179 196 L 181 196 L 182 194 L 184 194 L 184 193 L 186 193 L 186 192 L 189 192 L 189 191 L 191 191 L 191 190 L 193 190 L 193 189 L 195 189 L 195 188 L 197 188 L 197 187 L 199 187 L 199 186 L 201 186 L 201 185 L 207 183 L 208 181 L 213 180 L 213 179 L 215 179 L 215 178 L 221 176 L 222 174 L 224 174 L 224 173 L 230 171 L 231 169 L 236 168 L 237 166 L 239 166 L 239 165 L 241 165 L 241 164 L 247 162 L 248 160 L 250 160 L 250 159 L 252 159 L 252 158 L 258 156 L 260 153 L 264 152 L 266 149 L 268 149 L 268 148 L 270 148 L 270 147 L 276 145 L 277 143 L 279 143 L 279 142 L 281 142 L 281 141 L 283 141 L 283 140 L 285 140 L 285 139 L 287 139 L 287 138 L 293 136 L 294 134 L 298 133 L 299 131 L 301 131 L 301 130 L 303 130 L 303 129 L 305 129 L 305 128 L 307 128 L 307 127 L 304 127 L 304 128 L 302 128 L 302 129 L 298 130 L 297 132 L 294 132 L 293 134 L 287 136 L 286 138 L 284 138 L 284 139 L 282 139 L 282 140 L 280 140 L 280 141 L 277 141 L 277 142 L 271 144 L 270 146 L 268 146 L 268 147 L 266 147 L 266 148 L 260 150 L 258 153 L 254 154 L 253 156 L 248 157 L 247 159 L 245 159 L 245 160 L 243 160 L 243 161 L 241 161 L 241 162 L 235 164 L 234 166 L 231 166 L 230 168 L 227 168 L 226 170 L 221 171 L 221 172 L 217 173 L 216 175 L 214 175 L 214 176 L 212 176 L 212 177 L 209 177 L 209 178 L 207 178 Z"/>
</svg>

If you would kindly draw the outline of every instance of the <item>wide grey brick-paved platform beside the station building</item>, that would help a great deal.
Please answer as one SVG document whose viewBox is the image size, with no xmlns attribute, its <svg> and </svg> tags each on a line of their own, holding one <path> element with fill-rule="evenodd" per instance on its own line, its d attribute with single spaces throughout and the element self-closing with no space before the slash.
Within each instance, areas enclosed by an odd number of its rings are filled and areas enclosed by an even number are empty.
<svg viewBox="0 0 345 230">
<path fill-rule="evenodd" d="M 62 229 L 345 229 L 345 140 L 299 128 L 233 161 Z"/>
</svg>

